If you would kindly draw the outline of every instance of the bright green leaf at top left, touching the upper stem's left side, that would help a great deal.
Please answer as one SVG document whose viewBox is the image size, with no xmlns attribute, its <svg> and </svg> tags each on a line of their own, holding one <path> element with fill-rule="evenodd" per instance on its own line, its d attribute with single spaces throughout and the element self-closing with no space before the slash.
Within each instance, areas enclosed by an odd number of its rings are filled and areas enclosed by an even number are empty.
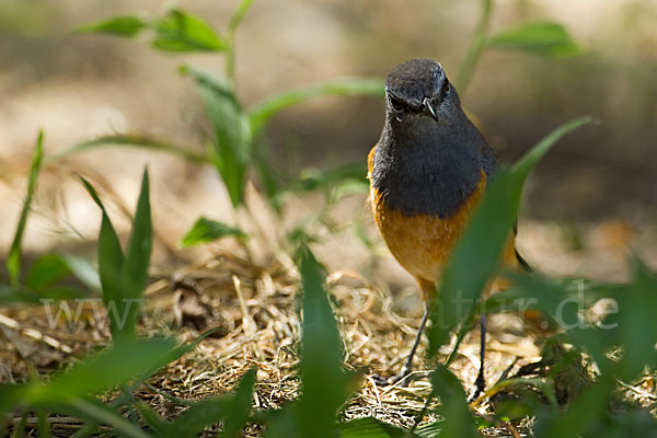
<svg viewBox="0 0 657 438">
<path fill-rule="evenodd" d="M 152 46 L 162 51 L 222 51 L 226 41 L 198 16 L 172 9 L 166 18 L 152 23 Z"/>
</svg>

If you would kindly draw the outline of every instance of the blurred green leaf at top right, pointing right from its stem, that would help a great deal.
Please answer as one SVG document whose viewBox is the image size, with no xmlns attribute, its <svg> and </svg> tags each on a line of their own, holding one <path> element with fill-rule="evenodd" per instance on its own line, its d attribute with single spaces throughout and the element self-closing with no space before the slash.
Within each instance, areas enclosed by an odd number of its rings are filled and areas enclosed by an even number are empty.
<svg viewBox="0 0 657 438">
<path fill-rule="evenodd" d="M 503 31 L 489 37 L 487 45 L 492 48 L 553 57 L 575 56 L 584 51 L 564 26 L 551 22 L 526 23 Z"/>
</svg>

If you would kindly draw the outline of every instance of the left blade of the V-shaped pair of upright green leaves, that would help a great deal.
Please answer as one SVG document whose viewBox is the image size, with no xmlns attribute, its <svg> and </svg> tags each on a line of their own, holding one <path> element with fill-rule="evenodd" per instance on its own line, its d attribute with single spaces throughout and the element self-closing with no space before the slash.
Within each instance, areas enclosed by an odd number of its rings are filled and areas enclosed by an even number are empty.
<svg viewBox="0 0 657 438">
<path fill-rule="evenodd" d="M 93 186 L 83 177 L 80 177 L 80 180 L 91 198 L 103 212 L 101 231 L 99 234 L 99 275 L 103 289 L 103 302 L 105 303 L 107 316 L 110 319 L 112 336 L 116 338 L 119 335 L 122 327 L 124 327 L 125 318 L 127 318 L 126 306 L 128 304 L 124 300 L 125 297 L 122 286 L 122 273 L 124 264 L 126 263 L 126 256 L 120 247 L 118 235 L 116 235 L 116 231 L 107 216 L 105 206 L 101 201 L 95 188 L 93 188 Z M 135 303 L 130 302 L 129 306 L 135 306 Z"/>
</svg>

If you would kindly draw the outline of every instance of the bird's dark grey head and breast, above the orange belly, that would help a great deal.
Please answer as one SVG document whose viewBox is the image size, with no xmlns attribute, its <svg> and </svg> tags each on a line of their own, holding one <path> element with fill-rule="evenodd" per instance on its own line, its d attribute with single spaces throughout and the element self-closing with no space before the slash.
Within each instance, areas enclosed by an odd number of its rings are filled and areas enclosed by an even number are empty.
<svg viewBox="0 0 657 438">
<path fill-rule="evenodd" d="M 489 177 L 495 154 L 468 119 L 442 67 L 412 59 L 385 81 L 385 125 L 372 160 L 371 184 L 406 215 L 446 218 Z"/>
</svg>

